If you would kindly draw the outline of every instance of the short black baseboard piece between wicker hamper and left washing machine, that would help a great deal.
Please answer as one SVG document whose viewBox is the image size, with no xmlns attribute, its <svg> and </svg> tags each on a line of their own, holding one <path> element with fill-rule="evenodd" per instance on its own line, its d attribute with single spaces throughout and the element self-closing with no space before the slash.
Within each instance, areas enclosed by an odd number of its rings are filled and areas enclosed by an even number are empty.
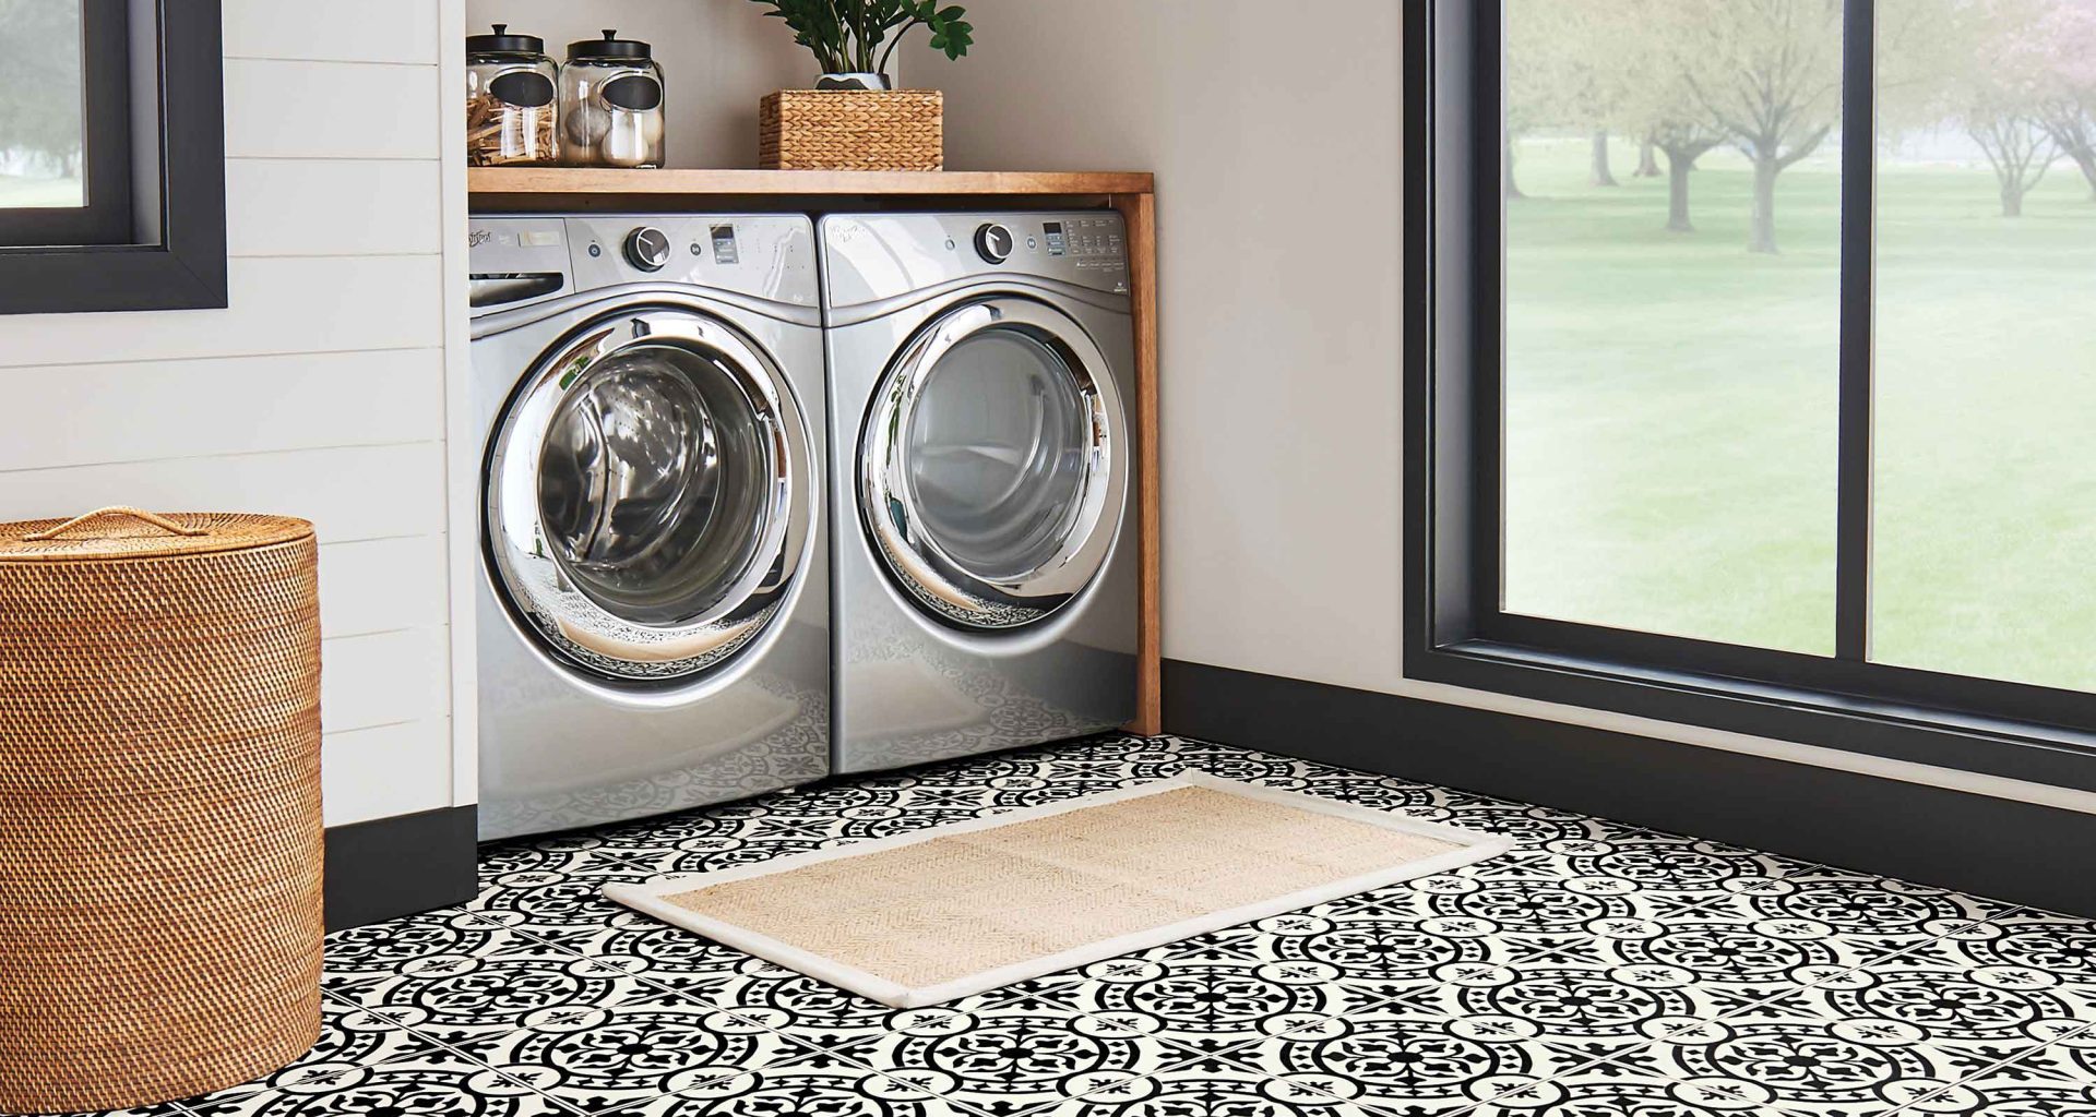
<svg viewBox="0 0 2096 1117">
<path fill-rule="evenodd" d="M 478 811 L 444 807 L 327 828 L 327 928 L 363 926 L 474 899 Z"/>
</svg>

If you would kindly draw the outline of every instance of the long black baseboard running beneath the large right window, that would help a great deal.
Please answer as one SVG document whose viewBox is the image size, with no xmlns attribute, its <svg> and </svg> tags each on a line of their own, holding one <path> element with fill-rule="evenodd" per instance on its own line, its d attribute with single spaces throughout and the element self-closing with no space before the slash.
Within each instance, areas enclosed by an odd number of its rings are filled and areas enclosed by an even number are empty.
<svg viewBox="0 0 2096 1117">
<path fill-rule="evenodd" d="M 1165 660 L 1170 733 L 2096 916 L 2096 815 Z"/>
</svg>

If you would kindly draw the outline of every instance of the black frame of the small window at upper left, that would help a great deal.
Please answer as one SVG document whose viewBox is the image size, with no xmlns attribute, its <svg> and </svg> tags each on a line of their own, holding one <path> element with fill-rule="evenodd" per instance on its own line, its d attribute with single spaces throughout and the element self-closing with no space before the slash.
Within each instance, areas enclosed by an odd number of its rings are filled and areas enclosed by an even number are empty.
<svg viewBox="0 0 2096 1117">
<path fill-rule="evenodd" d="M 145 13 L 151 36 L 132 25 Z M 151 67 L 132 59 L 140 40 Z M 88 205 L 0 210 L 0 314 L 226 306 L 220 50 L 220 0 L 82 0 Z M 157 124 L 147 195 L 134 122 Z"/>
</svg>

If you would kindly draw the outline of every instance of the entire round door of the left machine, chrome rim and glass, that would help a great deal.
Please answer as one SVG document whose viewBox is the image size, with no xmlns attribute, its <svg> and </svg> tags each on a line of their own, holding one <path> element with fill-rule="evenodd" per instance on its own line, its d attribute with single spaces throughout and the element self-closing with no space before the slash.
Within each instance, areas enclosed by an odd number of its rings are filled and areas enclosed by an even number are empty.
<svg viewBox="0 0 2096 1117">
<path fill-rule="evenodd" d="M 570 335 L 488 451 L 488 553 L 509 608 L 612 679 L 683 679 L 746 645 L 813 524 L 807 423 L 780 369 L 687 308 Z"/>
</svg>

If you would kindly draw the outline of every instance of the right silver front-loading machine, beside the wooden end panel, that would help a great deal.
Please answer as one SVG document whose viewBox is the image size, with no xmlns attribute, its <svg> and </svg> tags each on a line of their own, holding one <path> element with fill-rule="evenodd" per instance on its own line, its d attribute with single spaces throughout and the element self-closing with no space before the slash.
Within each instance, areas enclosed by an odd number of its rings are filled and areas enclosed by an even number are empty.
<svg viewBox="0 0 2096 1117">
<path fill-rule="evenodd" d="M 1136 713 L 1134 331 L 1113 212 L 838 214 L 836 771 Z"/>
</svg>

